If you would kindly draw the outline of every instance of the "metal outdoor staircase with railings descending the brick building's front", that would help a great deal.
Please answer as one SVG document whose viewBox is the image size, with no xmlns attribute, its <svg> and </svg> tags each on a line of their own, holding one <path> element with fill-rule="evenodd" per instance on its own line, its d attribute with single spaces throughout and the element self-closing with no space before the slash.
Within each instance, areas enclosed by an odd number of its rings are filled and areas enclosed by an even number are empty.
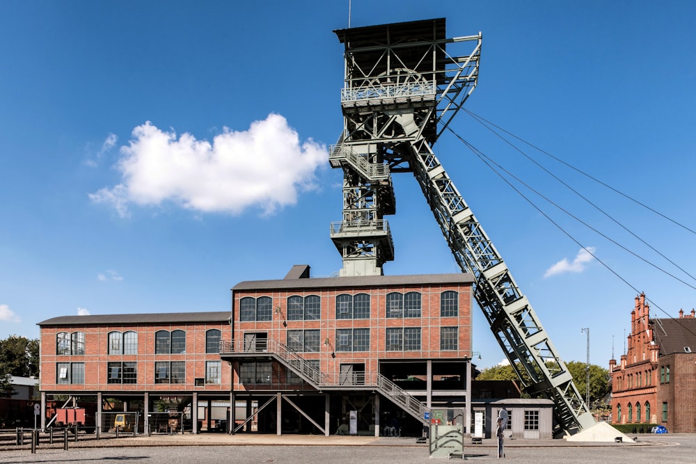
<svg viewBox="0 0 696 464">
<path fill-rule="evenodd" d="M 342 378 L 338 376 L 324 374 L 311 362 L 307 362 L 301 355 L 292 351 L 285 344 L 276 342 L 273 339 L 258 340 L 255 344 L 246 345 L 244 342 L 220 342 L 220 353 L 227 357 L 244 358 L 268 358 L 280 362 L 295 374 L 300 376 L 303 381 L 317 390 L 374 390 L 383 395 L 409 413 L 416 419 L 426 424 L 425 413 L 427 408 L 424 403 L 418 401 L 413 395 L 406 392 L 399 385 L 396 385 L 385 376 L 375 373 L 361 373 L 362 375 L 354 378 Z"/>
</svg>

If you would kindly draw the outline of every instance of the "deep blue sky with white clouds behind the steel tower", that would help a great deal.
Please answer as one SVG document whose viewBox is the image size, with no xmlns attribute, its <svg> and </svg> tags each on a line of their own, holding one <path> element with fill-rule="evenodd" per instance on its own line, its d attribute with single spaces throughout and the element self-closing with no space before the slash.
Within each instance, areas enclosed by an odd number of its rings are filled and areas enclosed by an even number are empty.
<svg viewBox="0 0 696 464">
<path fill-rule="evenodd" d="M 0 336 L 38 337 L 37 322 L 79 312 L 224 311 L 241 280 L 283 278 L 293 264 L 338 271 L 329 223 L 341 217 L 342 176 L 326 150 L 342 128 L 332 31 L 347 27 L 348 10 L 0 2 Z M 447 18 L 450 37 L 483 33 L 466 109 L 696 230 L 696 3 L 351 6 L 352 26 L 434 17 Z M 658 317 L 696 305 L 693 232 L 523 147 L 602 214 L 466 113 L 452 129 L 684 281 L 526 191 L 569 238 L 445 134 L 436 154 L 564 360 L 585 360 L 585 327 L 594 364 L 608 365 L 612 345 L 618 357 L 637 291 Z M 395 175 L 395 192 L 396 258 L 385 273 L 457 272 L 413 177 Z M 474 314 L 479 365 L 495 365 L 503 352 Z"/>
</svg>

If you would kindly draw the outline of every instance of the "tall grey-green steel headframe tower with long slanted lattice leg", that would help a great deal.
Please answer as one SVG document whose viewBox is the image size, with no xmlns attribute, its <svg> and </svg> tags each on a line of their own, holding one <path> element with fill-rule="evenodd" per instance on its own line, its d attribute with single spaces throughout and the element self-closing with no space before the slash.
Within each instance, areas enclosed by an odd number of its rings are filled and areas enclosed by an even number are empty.
<svg viewBox="0 0 696 464">
<path fill-rule="evenodd" d="M 391 173 L 413 173 L 525 390 L 553 399 L 562 431 L 591 426 L 537 314 L 432 150 L 476 87 L 481 34 L 446 38 L 445 19 L 334 32 L 345 45 L 344 125 L 329 154 L 343 170 L 343 220 L 331 224 L 340 275 L 381 275 L 394 259 L 384 219 L 396 211 Z"/>
</svg>

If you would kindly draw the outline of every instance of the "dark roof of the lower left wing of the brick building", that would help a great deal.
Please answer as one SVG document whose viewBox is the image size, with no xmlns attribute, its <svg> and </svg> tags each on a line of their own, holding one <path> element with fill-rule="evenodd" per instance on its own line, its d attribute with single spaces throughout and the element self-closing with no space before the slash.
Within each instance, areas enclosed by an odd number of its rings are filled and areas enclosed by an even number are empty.
<svg viewBox="0 0 696 464">
<path fill-rule="evenodd" d="M 90 314 L 89 316 L 59 316 L 39 322 L 38 326 L 91 326 L 104 324 L 225 322 L 231 311 L 210 312 L 149 312 L 144 314 Z"/>
</svg>

